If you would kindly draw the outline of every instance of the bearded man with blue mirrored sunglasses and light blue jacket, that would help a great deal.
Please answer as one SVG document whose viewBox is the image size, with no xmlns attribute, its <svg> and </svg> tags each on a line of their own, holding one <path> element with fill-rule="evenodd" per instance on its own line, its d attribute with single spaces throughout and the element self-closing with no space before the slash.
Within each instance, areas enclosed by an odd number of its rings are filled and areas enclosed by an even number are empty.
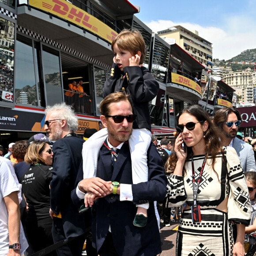
<svg viewBox="0 0 256 256">
<path fill-rule="evenodd" d="M 219 109 L 214 116 L 213 122 L 218 128 L 223 131 L 225 140 L 223 141 L 223 146 L 233 147 L 244 172 L 254 170 L 256 171 L 254 153 L 252 147 L 245 143 L 241 139 L 237 138 L 237 130 L 241 125 L 241 115 L 240 113 L 233 108 L 223 108 Z"/>
</svg>

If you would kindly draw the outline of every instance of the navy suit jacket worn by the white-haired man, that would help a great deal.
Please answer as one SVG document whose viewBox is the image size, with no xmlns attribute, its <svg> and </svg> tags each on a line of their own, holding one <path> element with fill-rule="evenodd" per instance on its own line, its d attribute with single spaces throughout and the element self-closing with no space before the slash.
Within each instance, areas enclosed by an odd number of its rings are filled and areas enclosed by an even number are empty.
<svg viewBox="0 0 256 256">
<path fill-rule="evenodd" d="M 53 180 L 50 184 L 50 206 L 55 214 L 61 213 L 66 237 L 82 235 L 85 230 L 83 215 L 71 200 L 71 191 L 82 161 L 83 139 L 75 136 L 58 139 L 53 143 Z"/>
</svg>

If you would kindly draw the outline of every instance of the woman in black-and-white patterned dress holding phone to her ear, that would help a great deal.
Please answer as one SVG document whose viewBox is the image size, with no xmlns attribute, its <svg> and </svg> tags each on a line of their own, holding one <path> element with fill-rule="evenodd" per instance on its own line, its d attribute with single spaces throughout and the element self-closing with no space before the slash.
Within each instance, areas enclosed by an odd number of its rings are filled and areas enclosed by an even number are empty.
<svg viewBox="0 0 256 256">
<path fill-rule="evenodd" d="M 177 233 L 176 255 L 202 252 L 244 256 L 245 226 L 251 214 L 248 188 L 236 151 L 222 147 L 218 128 L 199 105 L 190 105 L 180 113 L 176 129 L 175 153 L 166 163 L 172 172 L 168 177 L 166 207 L 186 202 Z M 232 223 L 237 225 L 236 241 Z"/>
</svg>

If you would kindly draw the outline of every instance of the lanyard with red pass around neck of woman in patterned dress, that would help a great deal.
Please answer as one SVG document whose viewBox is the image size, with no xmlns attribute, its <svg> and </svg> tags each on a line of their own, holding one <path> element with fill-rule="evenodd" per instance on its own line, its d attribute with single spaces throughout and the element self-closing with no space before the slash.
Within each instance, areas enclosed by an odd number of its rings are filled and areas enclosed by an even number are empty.
<svg viewBox="0 0 256 256">
<path fill-rule="evenodd" d="M 203 175 L 203 169 L 206 163 L 207 159 L 207 154 L 204 157 L 203 160 L 203 165 L 199 174 L 199 178 L 197 180 L 197 184 L 195 181 L 195 169 L 194 169 L 194 161 L 193 161 L 193 156 L 191 156 L 191 164 L 192 164 L 192 181 L 193 181 L 193 195 L 194 195 L 194 205 L 191 206 L 191 215 L 192 215 L 192 222 L 201 222 L 201 212 L 200 212 L 200 205 L 197 205 L 196 202 L 196 196 L 197 196 L 197 191 L 199 188 L 199 184 Z"/>
</svg>

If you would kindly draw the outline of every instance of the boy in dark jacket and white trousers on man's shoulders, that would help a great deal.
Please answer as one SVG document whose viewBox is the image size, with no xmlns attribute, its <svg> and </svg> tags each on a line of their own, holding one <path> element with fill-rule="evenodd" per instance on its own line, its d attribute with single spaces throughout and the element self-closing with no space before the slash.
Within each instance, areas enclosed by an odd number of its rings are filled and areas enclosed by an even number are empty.
<svg viewBox="0 0 256 256">
<path fill-rule="evenodd" d="M 132 159 L 132 180 L 134 184 L 146 182 L 148 181 L 147 150 L 151 143 L 149 102 L 158 94 L 159 83 L 142 65 L 145 42 L 138 30 L 122 30 L 113 40 L 111 48 L 114 53 L 113 65 L 109 79 L 103 87 L 103 97 L 117 91 L 130 95 L 134 114 L 137 116 L 133 123 L 132 135 L 128 140 Z M 84 178 L 96 177 L 98 152 L 106 137 L 107 131 L 102 129 L 84 143 Z M 139 204 L 137 207 L 133 224 L 143 227 L 147 223 L 149 204 Z"/>
</svg>

